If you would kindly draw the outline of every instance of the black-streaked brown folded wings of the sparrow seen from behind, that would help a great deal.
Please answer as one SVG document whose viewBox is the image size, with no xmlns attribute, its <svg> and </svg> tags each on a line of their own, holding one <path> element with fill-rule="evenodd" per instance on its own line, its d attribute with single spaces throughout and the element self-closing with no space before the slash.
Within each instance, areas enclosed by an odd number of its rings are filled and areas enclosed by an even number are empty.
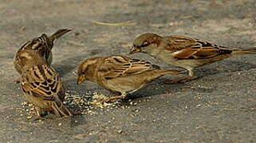
<svg viewBox="0 0 256 143">
<path fill-rule="evenodd" d="M 36 65 L 22 73 L 22 90 L 26 94 L 44 100 L 63 98 L 61 78 L 53 68 Z"/>
</svg>

